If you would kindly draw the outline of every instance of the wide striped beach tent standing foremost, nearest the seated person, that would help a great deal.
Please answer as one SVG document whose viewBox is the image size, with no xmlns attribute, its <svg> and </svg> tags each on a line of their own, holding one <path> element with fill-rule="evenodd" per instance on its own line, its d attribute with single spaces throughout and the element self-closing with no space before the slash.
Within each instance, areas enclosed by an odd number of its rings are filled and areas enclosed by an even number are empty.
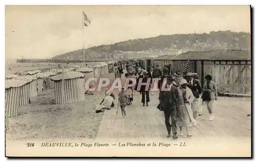
<svg viewBox="0 0 256 162">
<path fill-rule="evenodd" d="M 54 81 L 55 104 L 84 101 L 84 74 L 67 72 L 50 78 Z M 61 91 L 62 79 L 64 81 L 63 94 Z"/>
</svg>

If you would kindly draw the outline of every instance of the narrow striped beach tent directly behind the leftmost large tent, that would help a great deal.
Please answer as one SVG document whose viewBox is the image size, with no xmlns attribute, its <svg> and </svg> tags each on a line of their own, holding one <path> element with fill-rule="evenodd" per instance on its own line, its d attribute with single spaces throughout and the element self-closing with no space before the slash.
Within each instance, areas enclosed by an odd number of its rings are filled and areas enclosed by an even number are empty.
<svg viewBox="0 0 256 162">
<path fill-rule="evenodd" d="M 26 82 L 22 87 L 20 87 L 20 98 L 18 101 L 19 106 L 28 105 L 30 99 L 30 90 L 33 81 L 32 76 L 18 76 L 16 77 L 17 80 L 23 80 Z"/>
</svg>

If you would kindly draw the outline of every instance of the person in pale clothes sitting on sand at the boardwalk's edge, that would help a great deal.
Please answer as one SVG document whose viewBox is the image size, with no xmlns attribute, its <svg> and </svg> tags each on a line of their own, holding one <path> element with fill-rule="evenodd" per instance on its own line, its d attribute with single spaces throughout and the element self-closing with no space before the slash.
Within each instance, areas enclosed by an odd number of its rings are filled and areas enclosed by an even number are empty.
<svg viewBox="0 0 256 162">
<path fill-rule="evenodd" d="M 111 92 L 108 90 L 106 92 L 106 96 L 105 96 L 103 102 L 99 105 L 96 105 L 96 113 L 102 112 L 102 111 L 104 111 L 104 109 L 110 109 L 112 103 L 114 104 L 114 107 L 117 108 L 116 101 L 110 95 L 111 95 Z"/>
</svg>

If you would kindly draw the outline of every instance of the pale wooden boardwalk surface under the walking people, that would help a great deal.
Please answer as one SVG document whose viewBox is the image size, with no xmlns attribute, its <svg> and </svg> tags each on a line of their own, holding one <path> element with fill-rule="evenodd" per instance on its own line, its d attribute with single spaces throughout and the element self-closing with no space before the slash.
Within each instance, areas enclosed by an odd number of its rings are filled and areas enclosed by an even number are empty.
<svg viewBox="0 0 256 162">
<path fill-rule="evenodd" d="M 115 94 L 117 95 L 117 94 Z M 120 107 L 106 110 L 96 138 L 166 138 L 164 115 L 158 105 L 158 92 L 150 96 L 150 106 L 143 107 L 141 95 L 137 92 L 134 104 L 126 106 L 127 117 L 121 118 Z M 249 137 L 251 136 L 250 98 L 219 97 L 215 102 L 216 119 L 209 121 L 206 107 L 203 115 L 197 117 L 198 125 L 192 129 L 193 137 Z M 180 136 L 179 138 L 183 138 Z"/>
</svg>

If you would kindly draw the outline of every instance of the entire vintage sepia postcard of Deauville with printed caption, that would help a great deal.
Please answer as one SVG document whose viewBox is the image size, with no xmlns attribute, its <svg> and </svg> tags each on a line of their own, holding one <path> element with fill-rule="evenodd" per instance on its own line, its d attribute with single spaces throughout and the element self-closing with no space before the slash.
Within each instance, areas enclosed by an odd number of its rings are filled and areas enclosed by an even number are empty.
<svg viewBox="0 0 256 162">
<path fill-rule="evenodd" d="M 251 157 L 250 6 L 6 6 L 6 156 Z"/>
</svg>

